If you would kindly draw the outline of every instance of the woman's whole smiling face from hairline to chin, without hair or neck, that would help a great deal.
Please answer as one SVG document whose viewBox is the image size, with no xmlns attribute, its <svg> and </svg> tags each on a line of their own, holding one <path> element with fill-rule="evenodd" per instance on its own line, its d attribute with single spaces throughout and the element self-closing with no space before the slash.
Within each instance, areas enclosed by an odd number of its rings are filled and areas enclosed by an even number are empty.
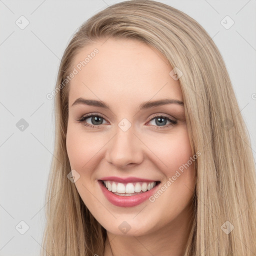
<svg viewBox="0 0 256 256">
<path fill-rule="evenodd" d="M 102 43 L 77 53 L 69 84 L 66 148 L 78 193 L 113 234 L 145 235 L 184 223 L 195 158 L 179 82 L 151 46 Z"/>
</svg>

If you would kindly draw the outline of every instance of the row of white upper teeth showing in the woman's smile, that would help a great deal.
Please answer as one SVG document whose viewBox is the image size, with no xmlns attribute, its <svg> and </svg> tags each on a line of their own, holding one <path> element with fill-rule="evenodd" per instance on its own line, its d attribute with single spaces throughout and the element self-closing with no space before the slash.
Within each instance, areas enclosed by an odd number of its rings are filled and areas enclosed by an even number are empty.
<svg viewBox="0 0 256 256">
<path fill-rule="evenodd" d="M 134 182 L 134 183 L 119 183 L 110 180 L 103 180 L 106 188 L 109 191 L 116 192 L 116 193 L 126 193 L 126 194 L 133 194 L 139 192 L 145 192 L 146 190 L 152 189 L 156 182 Z"/>
</svg>

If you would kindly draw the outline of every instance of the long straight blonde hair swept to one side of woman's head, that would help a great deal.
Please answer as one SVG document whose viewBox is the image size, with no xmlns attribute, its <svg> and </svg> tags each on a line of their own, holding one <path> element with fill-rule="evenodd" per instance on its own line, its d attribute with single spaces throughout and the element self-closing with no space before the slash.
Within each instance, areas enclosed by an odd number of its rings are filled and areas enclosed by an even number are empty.
<svg viewBox="0 0 256 256">
<path fill-rule="evenodd" d="M 109 37 L 151 45 L 182 72 L 179 83 L 190 144 L 193 153 L 201 152 L 185 256 L 256 253 L 254 159 L 224 61 L 211 37 L 194 19 L 166 4 L 116 3 L 93 15 L 73 35 L 61 59 L 56 88 L 70 73 L 79 50 Z M 55 96 L 55 146 L 41 255 L 103 255 L 106 230 L 67 178 L 67 117 L 68 83 Z"/>
</svg>

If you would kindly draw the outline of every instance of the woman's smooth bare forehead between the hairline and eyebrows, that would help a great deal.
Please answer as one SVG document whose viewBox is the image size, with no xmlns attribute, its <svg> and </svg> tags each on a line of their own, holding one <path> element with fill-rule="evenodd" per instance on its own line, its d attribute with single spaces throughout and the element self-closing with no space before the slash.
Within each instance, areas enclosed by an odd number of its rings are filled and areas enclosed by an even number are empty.
<svg viewBox="0 0 256 256">
<path fill-rule="evenodd" d="M 172 66 L 167 59 L 137 40 L 95 41 L 75 55 L 74 69 L 77 73 L 70 81 L 69 104 L 81 96 L 126 103 L 152 97 L 182 100 L 178 80 L 169 75 Z"/>
</svg>

